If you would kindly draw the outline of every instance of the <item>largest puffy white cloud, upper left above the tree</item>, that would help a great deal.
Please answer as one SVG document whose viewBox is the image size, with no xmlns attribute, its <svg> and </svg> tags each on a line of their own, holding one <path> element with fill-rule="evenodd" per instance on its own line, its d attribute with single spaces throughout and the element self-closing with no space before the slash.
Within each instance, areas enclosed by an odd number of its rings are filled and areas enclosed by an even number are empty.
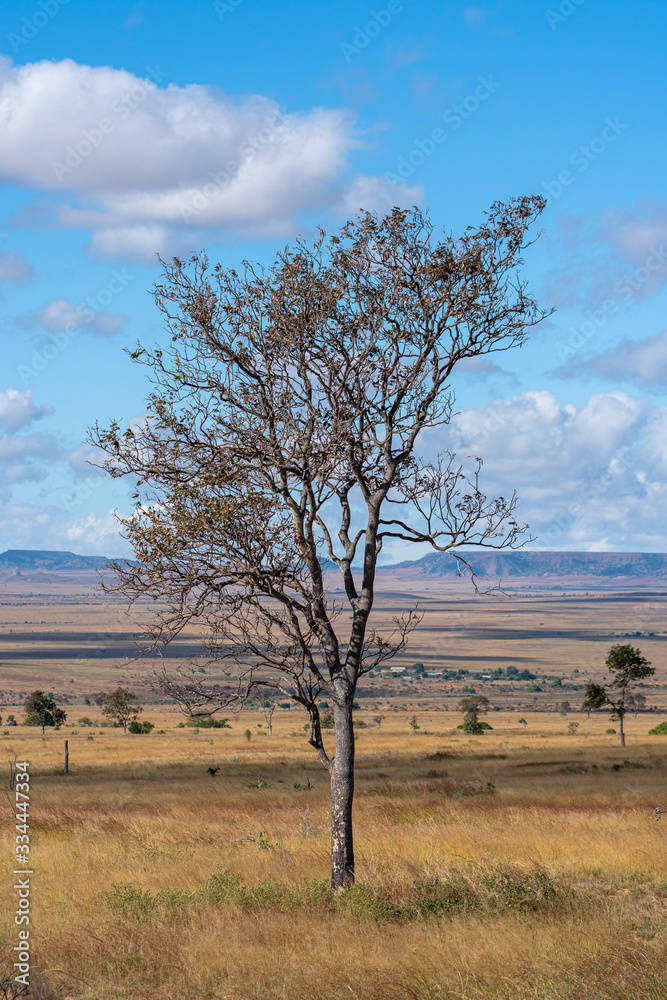
<svg viewBox="0 0 667 1000">
<path fill-rule="evenodd" d="M 90 229 L 102 255 L 154 260 L 206 230 L 276 236 L 304 213 L 421 197 L 353 174 L 344 111 L 283 114 L 263 96 L 160 86 L 151 72 L 158 83 L 71 59 L 0 60 L 0 177 L 56 192 L 56 222 Z"/>
</svg>

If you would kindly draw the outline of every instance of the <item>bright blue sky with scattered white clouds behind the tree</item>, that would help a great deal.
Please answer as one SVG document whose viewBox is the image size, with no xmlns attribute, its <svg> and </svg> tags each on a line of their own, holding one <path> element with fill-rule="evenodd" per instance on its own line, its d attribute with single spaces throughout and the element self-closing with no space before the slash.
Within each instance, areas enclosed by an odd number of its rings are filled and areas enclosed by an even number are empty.
<svg viewBox="0 0 667 1000">
<path fill-rule="evenodd" d="M 86 428 L 140 416 L 156 254 L 269 261 L 359 209 L 454 232 L 542 193 L 557 312 L 471 365 L 474 448 L 533 547 L 667 551 L 660 3 L 35 0 L 0 12 L 0 551 L 126 552 Z M 415 553 L 389 550 L 387 560 Z"/>
</svg>

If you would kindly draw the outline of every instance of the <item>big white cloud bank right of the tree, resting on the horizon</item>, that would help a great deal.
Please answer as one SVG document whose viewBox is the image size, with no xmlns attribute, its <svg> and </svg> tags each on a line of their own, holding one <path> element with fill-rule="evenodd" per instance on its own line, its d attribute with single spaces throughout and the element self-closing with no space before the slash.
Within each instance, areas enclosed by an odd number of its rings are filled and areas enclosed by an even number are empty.
<svg viewBox="0 0 667 1000">
<path fill-rule="evenodd" d="M 667 408 L 619 391 L 579 407 L 531 391 L 464 410 L 428 441 L 480 456 L 486 492 L 516 490 L 540 548 L 665 549 Z"/>
</svg>

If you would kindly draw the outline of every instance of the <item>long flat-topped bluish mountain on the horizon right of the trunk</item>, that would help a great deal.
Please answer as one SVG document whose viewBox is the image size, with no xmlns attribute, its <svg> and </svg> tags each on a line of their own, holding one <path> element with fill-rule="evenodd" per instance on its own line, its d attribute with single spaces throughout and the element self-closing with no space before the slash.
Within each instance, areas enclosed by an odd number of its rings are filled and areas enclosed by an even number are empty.
<svg viewBox="0 0 667 1000">
<path fill-rule="evenodd" d="M 665 552 L 460 552 L 478 576 L 491 577 L 653 577 L 667 578 Z M 383 566 L 410 576 L 456 576 L 456 559 L 431 552 L 421 559 Z"/>
</svg>

